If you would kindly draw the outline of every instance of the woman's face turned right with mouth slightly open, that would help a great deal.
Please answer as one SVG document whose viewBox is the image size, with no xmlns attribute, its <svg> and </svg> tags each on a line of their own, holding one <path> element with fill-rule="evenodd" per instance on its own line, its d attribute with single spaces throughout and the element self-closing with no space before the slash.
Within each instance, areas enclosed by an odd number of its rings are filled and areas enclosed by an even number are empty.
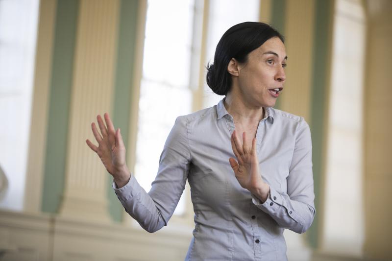
<svg viewBox="0 0 392 261">
<path fill-rule="evenodd" d="M 286 80 L 286 60 L 285 46 L 278 37 L 267 40 L 248 54 L 238 74 L 239 91 L 245 103 L 257 107 L 275 105 Z"/>
</svg>

